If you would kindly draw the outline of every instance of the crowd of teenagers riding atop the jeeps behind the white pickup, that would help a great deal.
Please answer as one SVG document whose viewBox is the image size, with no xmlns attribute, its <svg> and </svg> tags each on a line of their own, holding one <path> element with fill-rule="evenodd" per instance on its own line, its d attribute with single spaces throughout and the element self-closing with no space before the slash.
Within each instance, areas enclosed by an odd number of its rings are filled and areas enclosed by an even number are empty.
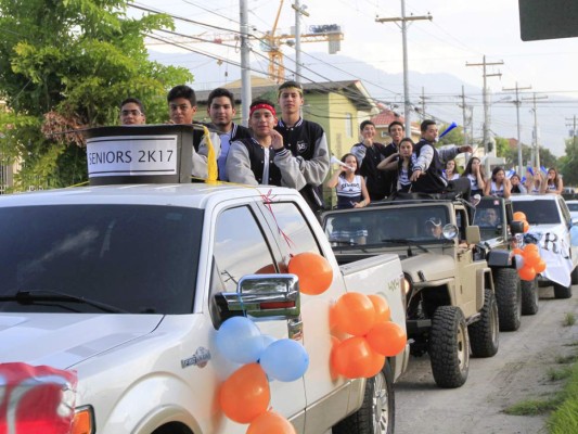
<svg viewBox="0 0 578 434">
<path fill-rule="evenodd" d="M 510 197 L 515 193 L 557 193 L 563 190 L 562 178 L 555 168 L 528 168 L 521 178 L 513 170 L 494 167 L 486 176 L 481 161 L 473 156 L 460 174 L 455 156 L 472 152 L 472 146 L 436 149 L 438 127 L 434 120 L 421 124 L 421 139 L 414 143 L 404 137 L 399 122 L 389 124 L 391 142 L 374 141 L 375 125 L 364 120 L 360 125 L 361 141 L 344 155 L 326 187 L 336 188 L 337 207 L 361 207 L 370 201 L 381 201 L 399 193 L 451 193 L 473 203 L 481 196 Z M 355 159 L 354 159 L 355 157 Z"/>
</svg>

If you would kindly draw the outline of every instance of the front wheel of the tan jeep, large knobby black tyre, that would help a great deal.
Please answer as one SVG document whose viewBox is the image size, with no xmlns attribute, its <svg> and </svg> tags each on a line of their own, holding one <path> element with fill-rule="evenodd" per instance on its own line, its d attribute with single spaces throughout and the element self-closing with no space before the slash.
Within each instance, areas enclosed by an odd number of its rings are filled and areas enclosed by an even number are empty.
<svg viewBox="0 0 578 434">
<path fill-rule="evenodd" d="M 439 387 L 460 387 L 470 369 L 470 339 L 462 310 L 440 306 L 432 318 L 429 358 L 434 380 Z"/>
</svg>

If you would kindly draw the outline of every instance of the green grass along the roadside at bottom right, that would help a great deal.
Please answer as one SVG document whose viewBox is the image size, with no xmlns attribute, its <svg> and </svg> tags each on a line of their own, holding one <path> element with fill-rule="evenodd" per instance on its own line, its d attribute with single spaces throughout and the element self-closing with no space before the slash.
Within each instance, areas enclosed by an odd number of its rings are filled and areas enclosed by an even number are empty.
<svg viewBox="0 0 578 434">
<path fill-rule="evenodd" d="M 574 315 L 567 314 L 562 324 L 571 327 L 576 323 Z M 527 399 L 506 408 L 506 414 L 537 416 L 550 413 L 547 421 L 550 434 L 578 433 L 578 342 L 570 344 L 570 356 L 557 357 L 560 368 L 547 373 L 550 381 L 564 383 L 562 390 L 542 399 Z"/>
</svg>

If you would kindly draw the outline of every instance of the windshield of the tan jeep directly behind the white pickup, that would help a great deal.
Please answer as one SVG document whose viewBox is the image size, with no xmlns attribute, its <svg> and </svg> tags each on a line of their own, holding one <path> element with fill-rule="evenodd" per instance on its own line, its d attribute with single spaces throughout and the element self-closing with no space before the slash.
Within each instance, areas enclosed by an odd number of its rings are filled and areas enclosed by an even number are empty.
<svg viewBox="0 0 578 434">
<path fill-rule="evenodd" d="M 331 213 L 324 230 L 335 247 L 423 245 L 448 242 L 441 229 L 449 221 L 445 206 L 375 206 Z"/>
</svg>

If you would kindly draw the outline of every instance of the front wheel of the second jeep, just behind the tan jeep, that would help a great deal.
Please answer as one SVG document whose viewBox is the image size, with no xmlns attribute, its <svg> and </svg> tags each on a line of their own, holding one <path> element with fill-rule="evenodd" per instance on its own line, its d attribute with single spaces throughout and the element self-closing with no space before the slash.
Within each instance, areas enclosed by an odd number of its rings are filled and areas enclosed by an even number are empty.
<svg viewBox="0 0 578 434">
<path fill-rule="evenodd" d="M 500 330 L 513 332 L 519 329 L 522 317 L 522 288 L 519 276 L 513 268 L 492 268 Z"/>
</svg>

